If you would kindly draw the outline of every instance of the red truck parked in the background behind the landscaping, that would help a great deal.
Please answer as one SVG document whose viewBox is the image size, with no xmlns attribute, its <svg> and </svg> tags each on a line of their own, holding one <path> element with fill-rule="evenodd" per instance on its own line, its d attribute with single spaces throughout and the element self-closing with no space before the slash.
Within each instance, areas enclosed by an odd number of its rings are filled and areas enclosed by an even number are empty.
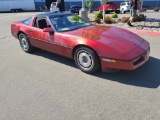
<svg viewBox="0 0 160 120">
<path fill-rule="evenodd" d="M 99 11 L 103 12 L 102 5 L 99 7 Z M 110 13 L 110 12 L 115 12 L 117 14 L 120 13 L 120 4 L 114 4 L 113 2 L 107 2 L 106 8 L 105 8 L 105 13 Z"/>
</svg>

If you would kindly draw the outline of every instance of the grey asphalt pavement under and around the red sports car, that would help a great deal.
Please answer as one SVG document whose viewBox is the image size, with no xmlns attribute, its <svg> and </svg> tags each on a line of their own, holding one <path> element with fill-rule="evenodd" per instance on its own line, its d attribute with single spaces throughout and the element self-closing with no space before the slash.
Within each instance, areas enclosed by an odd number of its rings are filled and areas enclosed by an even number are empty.
<svg viewBox="0 0 160 120">
<path fill-rule="evenodd" d="M 0 14 L 0 120 L 160 120 L 160 37 L 134 71 L 85 74 L 73 60 L 25 53 L 10 24 L 36 13 Z"/>
</svg>

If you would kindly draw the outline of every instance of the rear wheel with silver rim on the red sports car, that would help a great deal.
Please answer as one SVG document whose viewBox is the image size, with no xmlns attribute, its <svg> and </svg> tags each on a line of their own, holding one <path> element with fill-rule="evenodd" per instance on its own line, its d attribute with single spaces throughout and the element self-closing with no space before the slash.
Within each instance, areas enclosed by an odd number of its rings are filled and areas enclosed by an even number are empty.
<svg viewBox="0 0 160 120">
<path fill-rule="evenodd" d="M 30 44 L 27 35 L 25 35 L 24 33 L 20 33 L 18 38 L 19 38 L 21 48 L 25 52 L 31 53 L 33 51 L 33 46 Z"/>
</svg>

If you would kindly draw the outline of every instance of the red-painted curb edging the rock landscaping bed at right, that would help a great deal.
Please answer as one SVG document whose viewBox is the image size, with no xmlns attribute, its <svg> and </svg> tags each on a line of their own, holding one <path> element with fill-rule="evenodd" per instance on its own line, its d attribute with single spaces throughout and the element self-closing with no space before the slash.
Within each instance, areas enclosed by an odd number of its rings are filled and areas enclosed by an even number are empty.
<svg viewBox="0 0 160 120">
<path fill-rule="evenodd" d="M 146 30 L 133 30 L 129 29 L 129 31 L 137 34 L 145 34 L 145 35 L 152 35 L 152 36 L 160 36 L 160 32 L 154 32 L 154 31 L 146 31 Z"/>
</svg>

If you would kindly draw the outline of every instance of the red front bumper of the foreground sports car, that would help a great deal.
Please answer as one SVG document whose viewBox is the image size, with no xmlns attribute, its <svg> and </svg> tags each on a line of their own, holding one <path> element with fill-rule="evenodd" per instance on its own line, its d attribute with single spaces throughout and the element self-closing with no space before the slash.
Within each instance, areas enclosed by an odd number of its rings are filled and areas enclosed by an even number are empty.
<svg viewBox="0 0 160 120">
<path fill-rule="evenodd" d="M 143 65 L 149 59 L 149 53 L 150 52 L 147 51 L 130 61 L 115 60 L 116 62 L 107 62 L 104 61 L 104 57 L 100 57 L 102 71 L 107 69 L 134 70 Z"/>
</svg>

